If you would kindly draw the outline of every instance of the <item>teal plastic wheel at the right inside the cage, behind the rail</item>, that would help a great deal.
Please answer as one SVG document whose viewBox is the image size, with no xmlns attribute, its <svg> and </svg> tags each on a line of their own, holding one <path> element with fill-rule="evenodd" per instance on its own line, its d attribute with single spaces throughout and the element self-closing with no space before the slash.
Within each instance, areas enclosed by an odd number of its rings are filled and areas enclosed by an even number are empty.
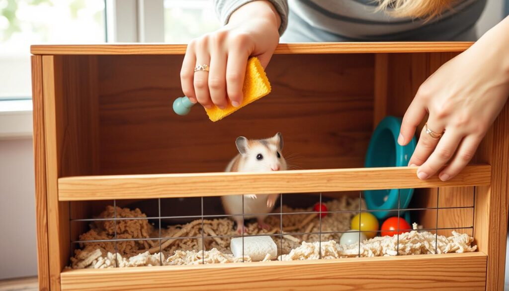
<svg viewBox="0 0 509 291">
<path fill-rule="evenodd" d="M 367 148 L 366 168 L 373 167 L 405 167 L 412 156 L 417 144 L 415 136 L 406 146 L 398 144 L 402 119 L 394 116 L 385 117 L 375 129 L 369 147 Z M 383 211 L 384 209 L 398 209 L 398 196 L 400 198 L 399 208 L 408 207 L 412 199 L 413 189 L 389 189 L 389 190 L 366 190 L 363 192 L 367 209 L 382 210 L 373 211 L 373 215 L 382 220 L 390 216 L 397 216 L 398 211 Z M 408 223 L 409 215 L 400 211 Z"/>
</svg>

